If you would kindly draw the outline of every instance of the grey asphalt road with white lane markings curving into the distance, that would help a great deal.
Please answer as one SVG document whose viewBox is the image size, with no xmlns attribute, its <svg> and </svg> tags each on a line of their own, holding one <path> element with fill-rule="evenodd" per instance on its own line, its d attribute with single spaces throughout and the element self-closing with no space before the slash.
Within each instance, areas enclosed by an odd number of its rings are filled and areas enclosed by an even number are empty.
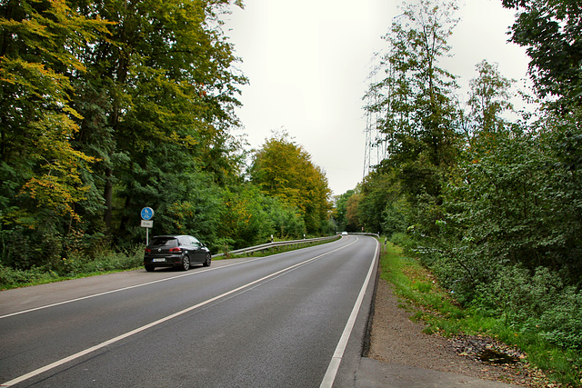
<svg viewBox="0 0 582 388">
<path fill-rule="evenodd" d="M 354 386 L 378 249 L 347 236 L 1 292 L 0 384 Z"/>
</svg>

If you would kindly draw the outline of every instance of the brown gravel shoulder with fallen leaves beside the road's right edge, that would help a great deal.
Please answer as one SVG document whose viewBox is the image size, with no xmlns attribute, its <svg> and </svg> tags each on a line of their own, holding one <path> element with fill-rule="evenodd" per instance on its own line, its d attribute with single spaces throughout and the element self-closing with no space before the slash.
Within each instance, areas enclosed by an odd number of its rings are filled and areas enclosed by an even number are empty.
<svg viewBox="0 0 582 388">
<path fill-rule="evenodd" d="M 424 323 L 412 322 L 409 319 L 412 313 L 399 304 L 391 285 L 378 279 L 367 358 L 391 365 L 422 368 L 517 386 L 552 386 L 548 385 L 543 373 L 528 369 L 523 361 L 513 364 L 489 363 L 478 357 L 484 349 L 500 349 L 517 359 L 523 359 L 525 354 L 488 337 L 445 338 L 438 334 L 423 333 Z"/>
</svg>

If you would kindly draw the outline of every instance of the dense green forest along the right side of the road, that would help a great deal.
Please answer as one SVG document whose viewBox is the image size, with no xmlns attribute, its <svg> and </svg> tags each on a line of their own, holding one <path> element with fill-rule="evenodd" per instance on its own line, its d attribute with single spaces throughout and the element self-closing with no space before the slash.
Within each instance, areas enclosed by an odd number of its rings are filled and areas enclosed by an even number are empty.
<svg viewBox="0 0 582 388">
<path fill-rule="evenodd" d="M 515 81 L 486 60 L 459 95 L 440 67 L 457 6 L 415 3 L 365 98 L 387 156 L 336 197 L 336 221 L 391 236 L 459 303 L 581 350 L 582 4 L 503 0 L 509 40 L 531 58 L 517 111 Z"/>
</svg>

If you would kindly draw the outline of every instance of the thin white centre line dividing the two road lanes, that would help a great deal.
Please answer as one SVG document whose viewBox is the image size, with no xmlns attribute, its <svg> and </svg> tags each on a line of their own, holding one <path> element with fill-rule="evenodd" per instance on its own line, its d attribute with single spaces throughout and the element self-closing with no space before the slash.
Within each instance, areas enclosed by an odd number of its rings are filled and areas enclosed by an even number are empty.
<svg viewBox="0 0 582 388">
<path fill-rule="evenodd" d="M 161 319 L 158 319 L 157 321 L 154 321 L 154 322 L 152 322 L 152 323 L 147 323 L 147 324 L 145 324 L 145 325 L 143 325 L 143 326 L 141 326 L 141 327 L 138 327 L 138 328 L 137 328 L 137 329 L 135 329 L 135 330 L 132 330 L 131 332 L 127 332 L 127 333 L 124 333 L 124 334 L 118 335 L 118 336 L 116 336 L 115 338 L 112 338 L 112 339 L 110 339 L 110 340 L 107 340 L 107 341 L 105 341 L 104 343 L 98 343 L 98 344 L 96 344 L 95 346 L 92 346 L 92 347 L 90 347 L 90 348 L 87 348 L 87 349 L 85 349 L 85 350 L 83 350 L 83 351 L 81 351 L 81 352 L 78 352 L 78 353 L 75 353 L 75 354 L 69 355 L 68 357 L 65 357 L 65 358 L 63 358 L 63 359 L 61 359 L 61 360 L 57 360 L 57 361 L 55 361 L 54 363 L 49 363 L 48 365 L 42 366 L 42 367 L 40 367 L 40 368 L 38 368 L 38 369 L 35 369 L 35 370 L 34 370 L 34 371 L 32 371 L 32 372 L 25 373 L 25 374 L 23 374 L 22 376 L 16 377 L 15 379 L 12 379 L 12 380 L 10 380 L 10 381 L 8 381 L 8 382 L 5 382 L 5 383 L 0 383 L 0 386 L 3 386 L 3 387 L 5 387 L 5 386 L 12 386 L 12 385 L 14 385 L 14 384 L 17 384 L 17 383 L 22 383 L 22 382 L 24 382 L 25 380 L 28 380 L 28 379 L 30 379 L 30 378 L 32 378 L 32 377 L 35 377 L 36 375 L 38 375 L 38 374 L 40 374 L 40 373 L 45 373 L 46 371 L 49 371 L 49 370 L 51 370 L 51 369 L 53 369 L 53 368 L 56 368 L 56 367 L 58 367 L 58 366 L 60 366 L 60 365 L 63 365 L 64 363 L 68 363 L 68 362 L 70 362 L 70 361 L 73 361 L 73 360 L 75 360 L 75 359 L 77 359 L 77 358 L 79 358 L 79 357 L 82 357 L 82 356 L 84 356 L 85 354 L 88 354 L 88 353 L 95 352 L 95 351 L 97 351 L 97 350 L 99 350 L 99 349 L 102 349 L 102 348 L 104 348 L 105 346 L 108 346 L 108 345 L 110 345 L 110 344 L 112 344 L 112 343 L 116 343 L 116 342 L 118 342 L 118 341 L 121 341 L 121 340 L 123 340 L 123 339 L 125 339 L 125 338 L 127 338 L 127 337 L 129 337 L 129 336 L 131 336 L 131 335 L 134 335 L 134 334 L 136 334 L 136 333 L 141 333 L 141 332 L 143 332 L 143 331 L 145 331 L 145 330 L 147 330 L 147 329 L 149 329 L 149 328 L 151 328 L 151 327 L 154 327 L 154 326 L 156 326 L 157 324 L 160 324 L 160 323 L 165 323 L 166 321 L 169 321 L 169 320 L 171 320 L 171 319 L 173 319 L 173 318 L 176 318 L 177 316 L 180 316 L 180 315 L 183 315 L 183 314 L 185 314 L 185 313 L 189 313 L 189 312 L 191 312 L 191 311 L 193 311 L 193 310 L 196 310 L 197 308 L 199 308 L 199 307 L 202 307 L 202 306 L 204 306 L 204 305 L 206 305 L 206 304 L 208 304 L 208 303 L 213 303 L 213 302 L 215 302 L 216 300 L 218 300 L 218 299 L 221 299 L 221 298 L 224 298 L 224 297 L 225 297 L 225 296 L 227 296 L 227 295 L 230 295 L 230 294 L 232 294 L 232 293 L 237 293 L 237 292 L 239 292 L 239 291 L 241 291 L 241 290 L 243 290 L 243 289 L 245 289 L 245 288 L 247 288 L 247 287 L 250 287 L 250 286 L 252 286 L 252 285 L 255 285 L 255 284 L 259 284 L 259 283 L 261 283 L 261 282 L 264 282 L 264 281 L 266 281 L 266 279 L 268 279 L 268 278 L 275 277 L 275 276 L 278 276 L 279 274 L 283 274 L 283 273 L 285 273 L 286 271 L 293 270 L 294 268 L 296 268 L 296 267 L 298 267 L 298 266 L 300 266 L 300 265 L 305 265 L 305 264 L 308 264 L 308 263 L 314 262 L 314 261 L 316 261 L 317 259 L 320 259 L 320 258 L 322 258 L 322 257 L 324 257 L 324 256 L 326 256 L 326 255 L 328 255 L 328 254 L 333 254 L 334 252 L 337 252 L 337 251 L 339 251 L 339 250 L 342 250 L 342 249 L 344 249 L 344 248 L 347 248 L 347 247 L 348 247 L 348 246 L 350 246 L 351 244 L 356 244 L 356 242 L 357 242 L 357 239 L 356 239 L 356 241 L 355 241 L 355 242 L 353 242 L 353 243 L 346 244 L 346 245 L 344 245 L 344 246 L 341 246 L 341 247 L 339 247 L 339 248 L 336 248 L 336 249 L 334 249 L 333 251 L 329 251 L 329 252 L 327 252 L 326 254 L 320 254 L 320 255 L 318 255 L 318 256 L 316 256 L 316 257 L 312 257 L 311 259 L 307 259 L 307 260 L 306 260 L 306 261 L 304 261 L 304 262 L 301 262 L 301 263 L 297 263 L 297 264 L 291 265 L 291 266 L 289 266 L 289 267 L 286 267 L 286 268 L 284 268 L 284 269 L 282 269 L 282 270 L 280 270 L 280 271 L 277 271 L 277 272 L 276 272 L 276 273 L 274 273 L 274 274 L 269 274 L 269 275 L 266 275 L 265 277 L 262 277 L 262 278 L 260 278 L 260 279 L 258 279 L 258 280 L 256 280 L 256 281 L 253 281 L 253 282 L 251 282 L 251 283 L 248 283 L 248 284 L 245 284 L 245 285 L 241 285 L 240 287 L 238 287 L 238 288 L 236 288 L 236 289 L 234 289 L 234 290 L 227 291 L 226 293 L 222 293 L 222 294 L 220 294 L 220 295 L 217 295 L 217 296 L 215 296 L 215 297 L 213 297 L 213 298 L 207 299 L 207 300 L 206 300 L 206 301 L 204 301 L 204 302 L 197 303 L 197 304 L 195 304 L 195 305 L 193 305 L 193 306 L 190 306 L 190 307 L 188 307 L 188 308 L 186 308 L 186 309 L 184 309 L 184 310 L 182 310 L 182 311 L 179 311 L 179 312 L 177 312 L 177 313 L 173 313 L 173 314 L 167 315 L 166 317 L 164 317 L 164 318 L 161 318 Z M 222 268 L 222 267 L 221 267 L 221 268 Z"/>
</svg>

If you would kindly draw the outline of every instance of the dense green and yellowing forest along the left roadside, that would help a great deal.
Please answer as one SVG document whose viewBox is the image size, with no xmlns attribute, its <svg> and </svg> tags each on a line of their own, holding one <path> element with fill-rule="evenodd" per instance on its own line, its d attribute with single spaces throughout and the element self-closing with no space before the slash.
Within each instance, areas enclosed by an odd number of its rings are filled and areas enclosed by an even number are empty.
<svg viewBox="0 0 582 388">
<path fill-rule="evenodd" d="M 215 253 L 331 232 L 309 154 L 285 133 L 249 152 L 238 134 L 232 6 L 0 3 L 0 270 L 139 250 L 146 206 L 150 234 L 195 234 Z"/>
</svg>

